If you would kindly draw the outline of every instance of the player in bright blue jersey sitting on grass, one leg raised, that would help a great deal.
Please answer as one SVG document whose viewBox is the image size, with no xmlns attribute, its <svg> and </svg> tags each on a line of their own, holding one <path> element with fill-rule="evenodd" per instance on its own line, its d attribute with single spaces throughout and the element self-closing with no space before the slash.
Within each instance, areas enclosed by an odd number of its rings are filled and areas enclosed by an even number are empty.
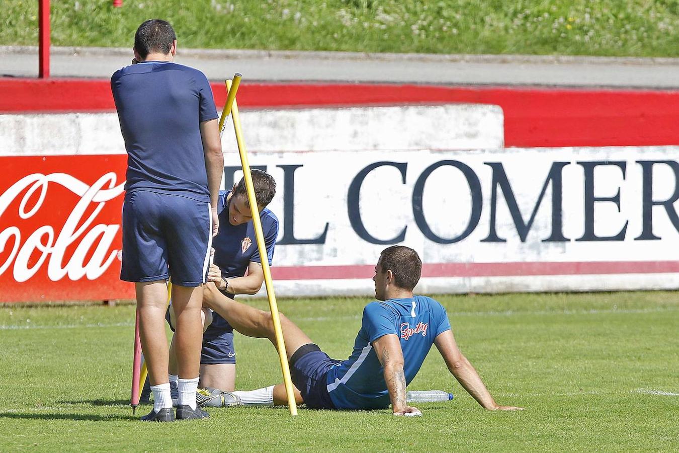
<svg viewBox="0 0 679 453">
<path fill-rule="evenodd" d="M 469 360 L 455 343 L 445 308 L 439 302 L 413 295 L 422 261 L 403 246 L 388 247 L 375 266 L 375 298 L 363 310 L 361 330 L 347 360 L 328 357 L 306 334 L 280 315 L 297 403 L 313 409 L 386 409 L 394 415 L 420 415 L 406 403 L 405 388 L 420 370 L 432 344 L 449 371 L 485 409 L 518 410 L 498 405 Z M 206 285 L 203 304 L 210 306 L 244 335 L 268 338 L 274 345 L 270 312 L 227 299 L 214 285 Z M 299 389 L 299 390 L 297 390 Z M 225 395 L 230 405 L 249 405 L 267 398 L 270 405 L 287 403 L 282 384 Z"/>
</svg>

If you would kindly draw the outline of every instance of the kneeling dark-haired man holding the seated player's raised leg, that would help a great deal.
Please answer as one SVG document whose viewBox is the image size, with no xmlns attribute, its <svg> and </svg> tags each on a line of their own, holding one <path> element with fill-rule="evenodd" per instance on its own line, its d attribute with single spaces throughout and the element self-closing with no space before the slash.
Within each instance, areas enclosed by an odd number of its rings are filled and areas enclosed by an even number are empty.
<svg viewBox="0 0 679 453">
<path fill-rule="evenodd" d="M 251 175 L 259 207 L 259 219 L 267 259 L 271 265 L 274 257 L 274 244 L 278 236 L 278 219 L 265 206 L 276 194 L 276 181 L 271 175 L 261 170 L 253 169 Z M 255 240 L 245 179 L 241 179 L 231 191 L 220 192 L 217 212 L 219 213 L 219 233 L 213 238 L 214 264 L 210 265 L 208 278 L 216 282 L 222 297 L 230 300 L 234 299 L 236 294 L 255 294 L 261 288 L 264 274 Z M 215 290 L 215 283 L 210 283 L 210 287 Z M 171 305 L 166 318 L 170 328 L 174 330 L 175 315 Z M 208 308 L 203 308 L 203 321 L 199 386 L 232 391 L 236 380 L 234 329 L 219 314 L 213 313 Z M 170 345 L 169 375 L 173 391 L 172 399 L 175 400 L 179 395 L 175 390 L 177 388 L 177 361 L 174 342 Z M 199 392 L 196 397 L 202 405 L 215 405 L 214 398 L 210 399 L 211 404 L 206 404 L 204 392 L 203 394 Z"/>
</svg>

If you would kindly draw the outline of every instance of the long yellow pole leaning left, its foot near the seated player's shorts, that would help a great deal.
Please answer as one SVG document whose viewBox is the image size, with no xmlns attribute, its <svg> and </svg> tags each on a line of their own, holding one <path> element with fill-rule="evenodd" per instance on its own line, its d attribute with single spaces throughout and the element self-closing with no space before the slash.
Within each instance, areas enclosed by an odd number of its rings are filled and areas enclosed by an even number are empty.
<svg viewBox="0 0 679 453">
<path fill-rule="evenodd" d="M 230 80 L 226 81 L 226 88 L 231 92 L 232 84 Z M 231 94 L 229 94 L 231 96 Z M 234 131 L 236 132 L 236 143 L 238 143 L 238 153 L 240 153 L 240 164 L 243 168 L 243 177 L 245 178 L 245 187 L 248 192 L 248 202 L 250 204 L 250 212 L 253 216 L 253 226 L 255 227 L 255 238 L 257 238 L 257 249 L 261 257 L 261 268 L 264 271 L 264 284 L 266 285 L 266 294 L 269 297 L 269 308 L 271 310 L 271 318 L 274 321 L 274 333 L 276 334 L 276 349 L 278 349 L 278 358 L 280 359 L 280 368 L 283 372 L 283 384 L 285 384 L 285 393 L 288 397 L 288 407 L 290 408 L 290 415 L 297 415 L 297 403 L 295 403 L 295 393 L 293 392 L 293 382 L 290 379 L 290 365 L 288 363 L 287 354 L 285 353 L 285 342 L 283 341 L 283 333 L 280 328 L 280 317 L 278 316 L 278 306 L 276 305 L 276 295 L 274 294 L 274 284 L 271 278 L 271 270 L 269 268 L 269 261 L 267 259 L 266 246 L 264 244 L 264 235 L 261 230 L 261 220 L 259 219 L 259 206 L 255 198 L 255 187 L 253 186 L 252 175 L 250 174 L 250 164 L 248 162 L 248 151 L 245 148 L 245 141 L 243 140 L 242 130 L 240 128 L 240 115 L 238 115 L 238 103 L 234 98 L 234 104 L 231 109 L 232 117 L 234 118 Z"/>
</svg>

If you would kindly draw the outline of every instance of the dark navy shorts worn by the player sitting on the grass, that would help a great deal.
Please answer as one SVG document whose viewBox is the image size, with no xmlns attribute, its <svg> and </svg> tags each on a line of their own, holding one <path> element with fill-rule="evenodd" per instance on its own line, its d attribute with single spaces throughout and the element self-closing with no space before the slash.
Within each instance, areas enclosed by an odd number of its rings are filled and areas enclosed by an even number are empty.
<svg viewBox="0 0 679 453">
<path fill-rule="evenodd" d="M 300 346 L 290 357 L 290 377 L 310 409 L 335 409 L 327 386 L 329 369 L 339 363 L 313 343 Z"/>
</svg>

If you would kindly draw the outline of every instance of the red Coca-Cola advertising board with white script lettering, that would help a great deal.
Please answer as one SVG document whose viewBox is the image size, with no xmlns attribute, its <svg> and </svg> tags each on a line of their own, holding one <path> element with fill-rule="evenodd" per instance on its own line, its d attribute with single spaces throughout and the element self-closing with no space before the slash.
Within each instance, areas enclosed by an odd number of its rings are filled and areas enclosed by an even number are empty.
<svg viewBox="0 0 679 453">
<path fill-rule="evenodd" d="M 119 278 L 126 162 L 0 157 L 0 302 L 134 297 Z"/>
</svg>

